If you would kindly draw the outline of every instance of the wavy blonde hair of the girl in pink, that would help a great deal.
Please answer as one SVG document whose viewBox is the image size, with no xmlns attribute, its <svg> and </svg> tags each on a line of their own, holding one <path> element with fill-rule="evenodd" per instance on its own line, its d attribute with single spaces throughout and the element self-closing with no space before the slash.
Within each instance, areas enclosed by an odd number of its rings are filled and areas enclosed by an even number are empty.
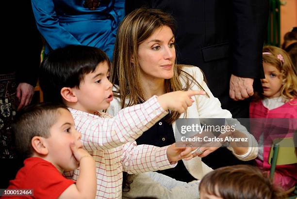
<svg viewBox="0 0 297 199">
<path fill-rule="evenodd" d="M 297 96 L 297 72 L 284 50 L 276 46 L 264 46 L 263 62 L 275 66 L 281 72 L 281 96 L 290 100 Z"/>
</svg>

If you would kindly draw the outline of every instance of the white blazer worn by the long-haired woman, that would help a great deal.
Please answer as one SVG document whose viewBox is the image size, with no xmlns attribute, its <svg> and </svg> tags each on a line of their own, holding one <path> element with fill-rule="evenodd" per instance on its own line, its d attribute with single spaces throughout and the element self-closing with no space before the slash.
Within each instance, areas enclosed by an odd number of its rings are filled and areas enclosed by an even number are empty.
<svg viewBox="0 0 297 199">
<path fill-rule="evenodd" d="M 191 107 L 187 108 L 186 118 L 231 118 L 232 115 L 230 111 L 221 108 L 221 103 L 217 98 L 214 97 L 212 92 L 207 87 L 203 74 L 201 70 L 196 66 L 184 66 L 182 68 L 183 71 L 191 74 L 199 84 L 204 88 L 204 90 L 209 94 L 210 97 L 206 95 L 196 95 L 195 103 L 192 104 Z M 183 85 L 186 83 L 186 79 L 184 77 L 180 77 Z M 114 87 L 114 89 L 116 89 Z M 191 90 L 200 90 L 196 84 L 193 84 Z M 128 104 L 128 100 L 126 100 L 126 104 Z M 111 115 L 116 115 L 117 112 L 121 109 L 121 103 L 119 98 L 114 98 L 111 102 L 110 107 L 107 109 L 107 113 Z M 180 118 L 185 118 L 185 114 L 181 114 Z M 234 121 L 237 124 L 240 124 L 237 120 Z M 173 132 L 175 132 L 175 122 L 172 123 Z M 247 129 L 242 125 L 236 125 L 236 129 L 245 133 L 248 136 L 249 140 L 249 150 L 244 155 L 238 155 L 234 153 L 232 147 L 228 147 L 229 150 L 240 160 L 251 160 L 257 157 L 258 155 L 258 144 L 255 138 L 247 132 Z M 251 147 L 253 146 L 253 147 Z M 183 163 L 189 173 L 195 177 L 196 179 L 202 179 L 202 177 L 213 169 L 208 167 L 201 161 L 200 157 L 192 158 L 191 160 L 183 160 Z"/>
</svg>

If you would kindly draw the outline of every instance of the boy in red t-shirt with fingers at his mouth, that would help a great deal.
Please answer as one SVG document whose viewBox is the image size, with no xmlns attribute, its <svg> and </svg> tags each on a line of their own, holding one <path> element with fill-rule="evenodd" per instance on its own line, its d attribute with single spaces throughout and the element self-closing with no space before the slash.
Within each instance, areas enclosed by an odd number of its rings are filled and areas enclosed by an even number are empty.
<svg viewBox="0 0 297 199">
<path fill-rule="evenodd" d="M 27 159 L 3 195 L 7 198 L 81 199 L 96 193 L 95 161 L 82 149 L 71 113 L 64 105 L 39 104 L 25 108 L 13 124 L 16 146 Z M 76 181 L 62 173 L 80 166 Z M 33 189 L 25 194 L 9 189 Z M 13 193 L 17 195 L 12 196 Z M 27 192 L 28 193 L 28 192 Z M 30 193 L 30 191 L 29 191 Z M 23 197 L 22 197 L 23 198 Z"/>
</svg>

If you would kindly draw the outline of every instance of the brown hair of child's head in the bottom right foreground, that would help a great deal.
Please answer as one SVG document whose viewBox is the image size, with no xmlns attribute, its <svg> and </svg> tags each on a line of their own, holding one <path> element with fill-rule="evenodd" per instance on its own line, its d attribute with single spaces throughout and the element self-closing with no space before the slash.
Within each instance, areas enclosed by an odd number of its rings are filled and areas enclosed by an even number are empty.
<svg viewBox="0 0 297 199">
<path fill-rule="evenodd" d="M 199 191 L 222 199 L 284 199 L 281 189 L 250 165 L 213 170 L 202 178 Z"/>
</svg>

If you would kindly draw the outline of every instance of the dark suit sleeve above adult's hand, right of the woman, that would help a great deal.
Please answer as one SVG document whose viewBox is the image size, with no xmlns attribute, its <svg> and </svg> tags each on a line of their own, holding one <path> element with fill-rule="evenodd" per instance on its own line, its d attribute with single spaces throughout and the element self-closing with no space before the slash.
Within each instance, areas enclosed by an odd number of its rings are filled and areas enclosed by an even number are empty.
<svg viewBox="0 0 297 199">
<path fill-rule="evenodd" d="M 264 78 L 262 48 L 266 35 L 269 1 L 232 0 L 232 74 Z"/>
</svg>

